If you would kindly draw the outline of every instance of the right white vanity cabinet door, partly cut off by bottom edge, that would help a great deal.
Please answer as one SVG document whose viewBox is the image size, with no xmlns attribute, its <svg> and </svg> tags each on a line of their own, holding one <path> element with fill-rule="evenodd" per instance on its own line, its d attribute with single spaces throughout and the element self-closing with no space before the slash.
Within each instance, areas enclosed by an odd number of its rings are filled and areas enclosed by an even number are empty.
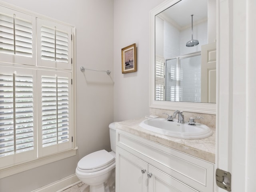
<svg viewBox="0 0 256 192">
<path fill-rule="evenodd" d="M 154 166 L 148 165 L 148 175 L 148 192 L 198 192 Z"/>
</svg>

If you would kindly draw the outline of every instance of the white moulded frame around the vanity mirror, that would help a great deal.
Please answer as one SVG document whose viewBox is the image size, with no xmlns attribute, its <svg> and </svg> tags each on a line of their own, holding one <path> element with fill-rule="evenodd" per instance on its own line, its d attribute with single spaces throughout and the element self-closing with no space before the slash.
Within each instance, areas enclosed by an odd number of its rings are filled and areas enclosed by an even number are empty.
<svg viewBox="0 0 256 192">
<path fill-rule="evenodd" d="M 155 100 L 155 16 L 180 0 L 166 0 L 150 11 L 150 108 L 216 114 L 215 103 Z"/>
</svg>

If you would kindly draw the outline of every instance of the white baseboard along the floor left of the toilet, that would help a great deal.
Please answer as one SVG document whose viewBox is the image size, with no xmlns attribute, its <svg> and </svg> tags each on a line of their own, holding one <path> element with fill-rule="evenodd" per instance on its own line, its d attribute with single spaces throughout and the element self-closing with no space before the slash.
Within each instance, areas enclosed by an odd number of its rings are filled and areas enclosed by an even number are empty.
<svg viewBox="0 0 256 192">
<path fill-rule="evenodd" d="M 33 190 L 31 192 L 61 192 L 80 182 L 81 181 L 77 178 L 76 174 L 73 174 L 61 180 L 58 180 L 56 182 L 53 182 L 51 184 L 48 184 L 46 186 Z"/>
</svg>

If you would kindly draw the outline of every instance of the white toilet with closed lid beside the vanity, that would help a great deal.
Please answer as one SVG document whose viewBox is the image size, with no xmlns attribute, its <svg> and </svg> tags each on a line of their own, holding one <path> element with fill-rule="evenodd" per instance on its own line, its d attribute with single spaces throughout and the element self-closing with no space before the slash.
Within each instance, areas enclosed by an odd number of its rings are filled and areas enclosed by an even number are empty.
<svg viewBox="0 0 256 192">
<path fill-rule="evenodd" d="M 116 167 L 116 128 L 109 124 L 111 152 L 99 150 L 84 156 L 77 164 L 76 176 L 90 186 L 90 192 L 104 192 L 104 183 Z"/>
</svg>

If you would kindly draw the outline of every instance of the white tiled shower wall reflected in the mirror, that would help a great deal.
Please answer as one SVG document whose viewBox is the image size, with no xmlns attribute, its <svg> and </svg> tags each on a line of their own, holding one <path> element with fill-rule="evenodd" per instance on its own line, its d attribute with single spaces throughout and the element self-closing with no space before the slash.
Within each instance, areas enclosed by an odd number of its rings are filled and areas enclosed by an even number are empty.
<svg viewBox="0 0 256 192">
<path fill-rule="evenodd" d="M 201 50 L 201 46 L 207 44 L 207 21 L 193 26 L 194 39 L 200 37 L 199 45 L 194 47 L 186 47 L 186 42 L 191 39 L 191 28 L 186 28 L 179 31 L 172 26 L 169 22 L 158 19 L 158 22 L 162 22 L 161 25 L 164 31 L 164 58 L 174 58 L 182 56 L 184 54 L 196 52 Z M 194 59 L 193 59 L 194 60 Z M 188 60 L 187 60 L 188 61 Z M 201 101 L 201 67 L 200 60 L 194 62 L 196 64 L 190 65 L 188 62 L 183 62 L 181 67 L 181 95 L 180 101 L 187 102 L 200 102 Z M 175 65 L 175 64 L 174 64 Z M 174 101 L 172 92 L 176 92 L 176 80 L 171 75 L 171 67 L 166 66 L 166 100 Z"/>
</svg>

